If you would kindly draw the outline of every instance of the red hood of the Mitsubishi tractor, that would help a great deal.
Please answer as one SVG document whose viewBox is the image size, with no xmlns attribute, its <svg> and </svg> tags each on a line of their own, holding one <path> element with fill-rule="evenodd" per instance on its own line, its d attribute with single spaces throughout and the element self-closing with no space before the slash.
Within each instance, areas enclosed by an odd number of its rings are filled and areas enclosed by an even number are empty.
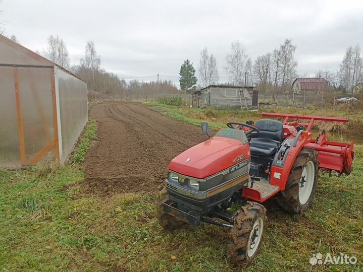
<svg viewBox="0 0 363 272">
<path fill-rule="evenodd" d="M 169 170 L 194 178 L 206 178 L 249 158 L 249 145 L 225 137 L 212 137 L 177 157 Z"/>
</svg>

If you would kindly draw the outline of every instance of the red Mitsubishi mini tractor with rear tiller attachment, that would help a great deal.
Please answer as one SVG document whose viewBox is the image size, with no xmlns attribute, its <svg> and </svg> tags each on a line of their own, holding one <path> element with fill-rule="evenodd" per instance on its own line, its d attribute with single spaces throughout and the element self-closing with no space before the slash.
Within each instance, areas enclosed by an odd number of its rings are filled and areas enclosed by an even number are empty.
<svg viewBox="0 0 363 272">
<path fill-rule="evenodd" d="M 264 234 L 266 209 L 261 203 L 276 195 L 284 210 L 304 212 L 313 201 L 319 168 L 349 175 L 354 158 L 353 142 L 330 142 L 325 131 L 312 139 L 310 132 L 314 121 L 347 118 L 262 115 L 284 121 L 229 122 L 228 128 L 175 157 L 169 164 L 166 198 L 159 204 L 158 218 L 166 229 L 200 222 L 231 228 L 231 260 L 245 266 Z M 201 127 L 210 136 L 208 123 Z"/>
</svg>

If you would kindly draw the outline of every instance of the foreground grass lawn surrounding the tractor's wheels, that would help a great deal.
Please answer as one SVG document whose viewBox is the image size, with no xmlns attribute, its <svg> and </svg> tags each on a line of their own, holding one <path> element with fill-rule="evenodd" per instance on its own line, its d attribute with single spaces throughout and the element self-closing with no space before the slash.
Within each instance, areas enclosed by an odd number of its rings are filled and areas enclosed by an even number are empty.
<svg viewBox="0 0 363 272">
<path fill-rule="evenodd" d="M 361 271 L 363 146 L 355 150 L 352 174 L 322 173 L 306 213 L 291 216 L 267 203 L 263 246 L 244 271 Z M 228 261 L 228 229 L 165 232 L 155 218 L 158 194 L 94 197 L 82 190 L 83 178 L 77 163 L 49 175 L 0 170 L 0 270 L 239 271 Z M 355 255 L 358 264 L 311 266 L 317 252 Z"/>
</svg>

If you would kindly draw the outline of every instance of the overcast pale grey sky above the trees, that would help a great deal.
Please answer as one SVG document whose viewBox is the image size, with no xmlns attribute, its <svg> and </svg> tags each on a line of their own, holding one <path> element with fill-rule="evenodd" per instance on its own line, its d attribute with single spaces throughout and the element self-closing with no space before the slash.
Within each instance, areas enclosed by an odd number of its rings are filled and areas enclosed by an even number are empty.
<svg viewBox="0 0 363 272">
<path fill-rule="evenodd" d="M 232 41 L 244 44 L 254 61 L 286 38 L 297 45 L 298 74 L 314 75 L 337 70 L 347 47 L 363 45 L 363 0 L 0 0 L 0 10 L 6 34 L 22 45 L 41 52 L 50 34 L 59 35 L 78 64 L 93 40 L 102 67 L 119 77 L 178 76 L 186 58 L 197 69 L 204 46 L 225 76 Z"/>
</svg>

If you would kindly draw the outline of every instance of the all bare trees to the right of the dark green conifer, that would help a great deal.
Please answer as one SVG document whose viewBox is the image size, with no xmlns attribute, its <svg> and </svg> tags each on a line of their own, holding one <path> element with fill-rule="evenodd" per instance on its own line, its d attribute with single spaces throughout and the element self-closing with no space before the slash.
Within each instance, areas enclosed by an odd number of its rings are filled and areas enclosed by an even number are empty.
<svg viewBox="0 0 363 272">
<path fill-rule="evenodd" d="M 231 43 L 230 52 L 226 55 L 226 71 L 229 81 L 219 81 L 217 61 L 208 48 L 200 52 L 198 76 L 199 88 L 212 84 L 257 86 L 260 92 L 287 92 L 297 77 L 307 78 L 310 75 L 297 75 L 298 62 L 295 60 L 296 45 L 291 39 L 272 52 L 257 56 L 252 63 L 246 47 L 239 41 Z M 338 71 L 319 70 L 316 78 L 328 81 L 330 89 L 341 92 L 363 92 L 363 51 L 359 44 L 346 49 Z"/>
</svg>

